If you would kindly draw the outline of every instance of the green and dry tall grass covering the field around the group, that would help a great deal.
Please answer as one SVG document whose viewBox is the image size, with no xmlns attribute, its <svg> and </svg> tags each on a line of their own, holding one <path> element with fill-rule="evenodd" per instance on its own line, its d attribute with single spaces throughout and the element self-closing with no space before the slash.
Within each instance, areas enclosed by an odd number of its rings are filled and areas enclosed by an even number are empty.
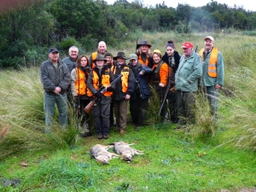
<svg viewBox="0 0 256 192">
<path fill-rule="evenodd" d="M 139 33 L 138 33 L 139 34 Z M 179 44 L 191 41 L 203 46 L 208 34 L 177 35 L 143 33 L 154 49 L 167 40 Z M 134 131 L 131 120 L 127 133 L 110 131 L 108 140 L 78 137 L 75 113 L 69 109 L 71 125 L 61 131 L 44 133 L 44 91 L 39 67 L 0 72 L 0 191 L 253 191 L 256 187 L 256 38 L 235 34 L 212 34 L 224 55 L 224 88 L 220 91 L 218 129 L 212 125 L 207 102 L 200 96 L 196 124 L 185 131 L 176 125 L 160 124 L 156 117 L 158 98 L 150 99 L 147 125 Z M 125 43 L 119 49 L 125 49 Z M 128 46 L 129 45 L 129 46 Z M 201 45 L 201 46 L 200 46 Z M 131 47 L 132 42 L 127 42 Z M 110 46 L 109 46 L 110 47 Z M 108 51 L 117 53 L 118 49 Z M 125 49 L 129 55 L 134 49 Z M 57 114 L 57 112 L 56 112 Z M 96 143 L 135 143 L 144 151 L 131 164 L 110 160 L 98 164 L 90 157 Z M 112 151 L 113 149 L 109 149 Z M 28 166 L 22 166 L 27 163 Z M 3 187 L 9 180 L 19 184 Z"/>
</svg>

